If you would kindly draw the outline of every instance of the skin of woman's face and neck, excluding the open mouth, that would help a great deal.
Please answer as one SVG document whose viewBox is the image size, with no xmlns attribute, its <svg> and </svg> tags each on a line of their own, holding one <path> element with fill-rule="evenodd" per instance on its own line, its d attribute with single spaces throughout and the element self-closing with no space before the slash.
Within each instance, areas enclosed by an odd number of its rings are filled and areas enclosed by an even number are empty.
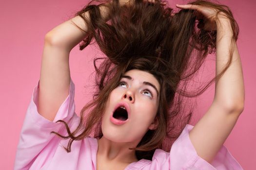
<svg viewBox="0 0 256 170">
<path fill-rule="evenodd" d="M 159 92 L 160 85 L 158 80 L 150 73 L 141 70 L 129 70 L 125 73 L 128 78 L 122 78 L 120 83 L 109 96 L 105 111 L 102 117 L 103 136 L 98 140 L 98 161 L 108 162 L 108 164 L 97 164 L 98 168 L 109 168 L 111 164 L 128 164 L 138 161 L 134 150 L 129 147 L 136 147 L 151 129 L 157 128 L 158 121 L 155 119 L 158 110 L 158 94 L 150 85 L 142 82 L 149 82 L 157 87 Z M 151 92 L 149 92 L 149 89 Z M 128 121 L 122 125 L 116 125 L 110 121 L 114 107 L 118 102 L 126 102 L 130 106 L 131 114 Z M 102 167 L 108 165 L 107 167 Z"/>
</svg>

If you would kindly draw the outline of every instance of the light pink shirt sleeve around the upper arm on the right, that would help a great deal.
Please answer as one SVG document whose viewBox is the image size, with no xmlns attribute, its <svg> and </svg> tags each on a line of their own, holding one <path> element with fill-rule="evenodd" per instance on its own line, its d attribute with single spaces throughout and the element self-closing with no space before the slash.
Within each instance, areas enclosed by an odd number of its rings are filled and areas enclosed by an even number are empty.
<svg viewBox="0 0 256 170">
<path fill-rule="evenodd" d="M 194 126 L 187 124 L 170 151 L 171 170 L 243 170 L 228 149 L 222 145 L 210 164 L 197 155 L 189 138 Z"/>
</svg>

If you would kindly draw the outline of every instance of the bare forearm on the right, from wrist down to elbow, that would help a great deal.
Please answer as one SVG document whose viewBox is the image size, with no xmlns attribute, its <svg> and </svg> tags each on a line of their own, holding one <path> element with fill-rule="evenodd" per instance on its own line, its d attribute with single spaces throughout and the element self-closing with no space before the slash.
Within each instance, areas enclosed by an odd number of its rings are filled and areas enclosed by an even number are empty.
<svg viewBox="0 0 256 170">
<path fill-rule="evenodd" d="M 215 84 L 214 102 L 230 110 L 242 110 L 244 104 L 244 83 L 242 64 L 233 41 L 230 21 L 221 18 L 217 21 L 216 74 L 227 64 L 230 54 L 233 56 L 230 67 Z M 231 52 L 231 53 L 230 53 Z"/>
</svg>

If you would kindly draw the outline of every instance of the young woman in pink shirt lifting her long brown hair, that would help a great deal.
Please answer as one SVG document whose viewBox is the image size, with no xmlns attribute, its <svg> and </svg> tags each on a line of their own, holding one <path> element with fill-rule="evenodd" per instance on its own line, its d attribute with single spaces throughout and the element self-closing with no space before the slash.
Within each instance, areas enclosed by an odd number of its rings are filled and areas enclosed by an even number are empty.
<svg viewBox="0 0 256 170">
<path fill-rule="evenodd" d="M 238 26 L 229 8 L 197 0 L 177 5 L 175 14 L 160 1 L 92 2 L 45 36 L 15 170 L 242 170 L 223 146 L 244 103 Z M 79 118 L 69 53 L 93 38 L 107 57 L 95 59 L 97 89 Z M 216 77 L 188 92 L 211 52 Z M 210 108 L 188 124 L 184 97 L 214 81 Z"/>
</svg>

